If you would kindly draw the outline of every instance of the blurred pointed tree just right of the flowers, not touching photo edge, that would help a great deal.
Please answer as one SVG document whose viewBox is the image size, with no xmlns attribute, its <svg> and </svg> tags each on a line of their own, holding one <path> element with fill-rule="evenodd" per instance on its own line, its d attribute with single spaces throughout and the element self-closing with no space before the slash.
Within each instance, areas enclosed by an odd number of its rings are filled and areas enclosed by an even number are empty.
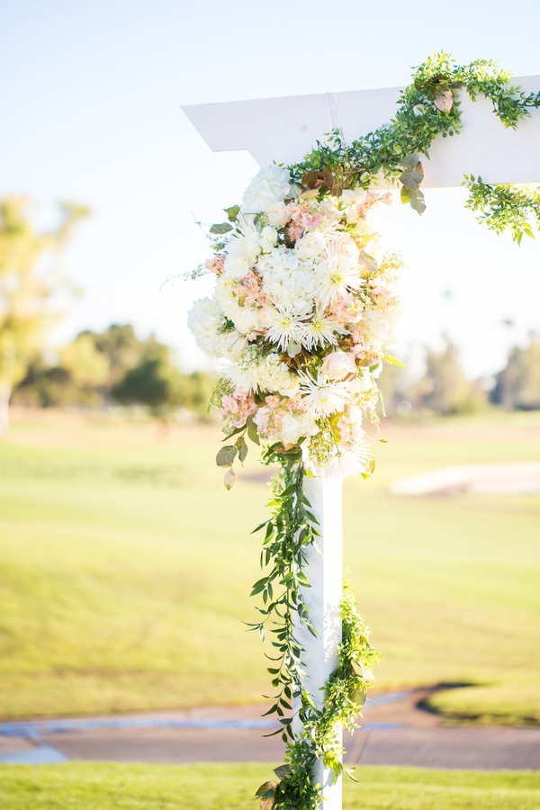
<svg viewBox="0 0 540 810">
<path fill-rule="evenodd" d="M 482 410 L 487 403 L 487 393 L 479 383 L 467 378 L 457 347 L 447 336 L 444 340 L 442 351 L 427 349 L 426 372 L 410 387 L 410 401 L 443 416 Z"/>
</svg>

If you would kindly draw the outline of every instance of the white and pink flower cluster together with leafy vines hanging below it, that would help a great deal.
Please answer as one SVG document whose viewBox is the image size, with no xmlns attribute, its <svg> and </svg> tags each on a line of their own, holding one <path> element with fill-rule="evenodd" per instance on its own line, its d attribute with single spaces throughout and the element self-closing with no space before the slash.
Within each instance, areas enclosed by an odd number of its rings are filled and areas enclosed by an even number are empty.
<svg viewBox="0 0 540 810">
<path fill-rule="evenodd" d="M 315 185 L 294 184 L 282 166 L 258 172 L 241 206 L 226 209 L 229 221 L 211 228 L 213 256 L 204 270 L 215 275 L 215 290 L 189 316 L 199 346 L 227 363 L 212 396 L 227 438 L 236 437 L 217 455 L 226 487 L 235 481 L 237 456 L 240 463 L 246 457 L 246 438 L 265 446 L 266 463 L 281 466 L 274 516 L 257 527 L 265 529 L 265 576 L 252 595 L 264 607 L 251 629 L 275 648 L 268 671 L 277 694 L 269 711 L 287 746 L 280 781 L 266 782 L 257 796 L 261 807 L 303 810 L 320 806 L 312 779 L 320 757 L 337 776 L 344 770 L 335 728 L 356 727 L 377 660 L 346 588 L 340 664 L 324 707 L 315 706 L 296 631 L 300 620 L 317 632 L 302 590 L 306 552 L 319 534 L 303 477 L 368 477 L 374 470 L 365 421 L 378 421 L 383 360 L 399 363 L 387 347 L 401 267 L 374 228 L 373 211 L 391 202 L 389 194 Z M 302 725 L 296 737 L 293 711 Z"/>
</svg>

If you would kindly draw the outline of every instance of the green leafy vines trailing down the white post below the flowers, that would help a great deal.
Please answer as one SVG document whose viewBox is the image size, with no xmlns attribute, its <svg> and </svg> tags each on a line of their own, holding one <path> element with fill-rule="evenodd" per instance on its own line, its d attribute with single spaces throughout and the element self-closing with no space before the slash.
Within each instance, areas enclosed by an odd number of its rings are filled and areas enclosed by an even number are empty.
<svg viewBox="0 0 540 810">
<path fill-rule="evenodd" d="M 316 635 L 302 598 L 302 589 L 309 587 L 302 568 L 307 549 L 319 536 L 317 519 L 303 492 L 304 470 L 300 456 L 269 449 L 265 461 L 268 464 L 279 461 L 280 473 L 273 482 L 274 500 L 269 504 L 273 517 L 254 531 L 265 531 L 261 567 L 271 567 L 251 591 L 252 596 L 262 596 L 263 607 L 257 610 L 263 618 L 249 627 L 257 630 L 263 640 L 269 637 L 275 649 L 275 657 L 267 657 L 273 662 L 268 672 L 277 694 L 266 715 L 276 715 L 281 729 L 274 734 L 282 734 L 286 747 L 284 765 L 275 769 L 279 781 L 266 781 L 258 788 L 256 796 L 261 800 L 262 810 L 318 810 L 322 790 L 313 779 L 317 761 L 322 760 L 336 779 L 344 770 L 352 777 L 352 772 L 341 761 L 343 748 L 336 731 L 340 727 L 351 731 L 357 727 L 357 717 L 373 680 L 372 670 L 379 653 L 369 643 L 369 630 L 358 614 L 353 589 L 345 581 L 340 608 L 342 639 L 338 667 L 326 684 L 322 707 L 316 707 L 306 688 L 303 649 L 295 634 L 301 621 Z M 301 734 L 293 735 L 293 711 L 302 725 Z"/>
</svg>

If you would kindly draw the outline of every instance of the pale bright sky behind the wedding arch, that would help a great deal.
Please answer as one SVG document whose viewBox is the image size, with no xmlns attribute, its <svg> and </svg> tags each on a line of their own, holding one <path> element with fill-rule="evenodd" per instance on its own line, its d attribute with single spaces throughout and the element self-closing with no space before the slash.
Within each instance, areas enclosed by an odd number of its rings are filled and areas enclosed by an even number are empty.
<svg viewBox="0 0 540 810">
<path fill-rule="evenodd" d="M 537 0 L 486 8 L 3 0 L 0 196 L 28 197 L 43 223 L 57 201 L 93 211 L 63 257 L 84 294 L 53 342 L 130 322 L 174 346 L 185 368 L 204 367 L 186 316 L 209 286 L 182 276 L 208 257 L 197 222 L 239 202 L 257 164 L 212 153 L 182 105 L 402 86 L 441 49 L 540 75 Z M 540 330 L 540 238 L 517 247 L 478 225 L 461 189 L 426 196 L 422 218 L 398 202 L 385 223 L 407 264 L 393 353 L 418 365 L 445 331 L 469 374 L 492 374 L 510 345 Z"/>
</svg>

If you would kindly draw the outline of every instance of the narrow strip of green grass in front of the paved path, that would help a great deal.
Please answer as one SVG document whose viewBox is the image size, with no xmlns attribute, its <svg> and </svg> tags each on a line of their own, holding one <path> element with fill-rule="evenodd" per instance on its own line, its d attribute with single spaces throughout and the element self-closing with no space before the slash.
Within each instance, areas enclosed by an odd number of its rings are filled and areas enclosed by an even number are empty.
<svg viewBox="0 0 540 810">
<path fill-rule="evenodd" d="M 0 766 L 5 810 L 256 810 L 265 768 L 242 765 Z M 534 810 L 540 774 L 362 768 L 344 782 L 344 810 Z"/>
</svg>

